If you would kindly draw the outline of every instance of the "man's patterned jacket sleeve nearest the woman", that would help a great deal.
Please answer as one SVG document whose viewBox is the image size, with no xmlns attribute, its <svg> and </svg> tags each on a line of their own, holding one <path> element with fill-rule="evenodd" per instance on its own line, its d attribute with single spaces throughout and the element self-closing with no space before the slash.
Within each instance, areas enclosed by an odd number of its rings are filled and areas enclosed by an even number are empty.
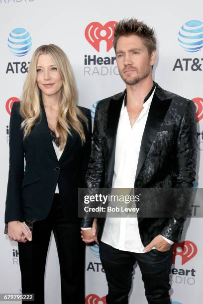
<svg viewBox="0 0 203 304">
<path fill-rule="evenodd" d="M 102 177 L 104 172 L 103 147 L 102 128 L 99 124 L 98 104 L 95 111 L 92 153 L 86 174 L 86 187 L 88 188 L 102 187 Z M 91 189 L 89 189 L 89 191 L 91 194 Z M 81 222 L 82 228 L 92 227 L 94 219 L 89 218 L 88 216 L 88 213 L 86 213 L 85 218 Z"/>
</svg>

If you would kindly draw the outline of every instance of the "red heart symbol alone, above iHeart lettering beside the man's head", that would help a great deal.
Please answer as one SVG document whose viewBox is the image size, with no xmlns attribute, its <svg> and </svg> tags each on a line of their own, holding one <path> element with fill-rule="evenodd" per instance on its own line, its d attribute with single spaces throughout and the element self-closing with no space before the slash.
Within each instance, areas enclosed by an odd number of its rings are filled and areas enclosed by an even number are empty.
<svg viewBox="0 0 203 304">
<path fill-rule="evenodd" d="M 100 22 L 91 22 L 85 29 L 85 38 L 98 52 L 100 52 L 100 42 L 104 40 L 106 42 L 106 52 L 108 52 L 113 46 L 116 24 L 116 21 L 108 21 L 104 25 Z"/>
</svg>

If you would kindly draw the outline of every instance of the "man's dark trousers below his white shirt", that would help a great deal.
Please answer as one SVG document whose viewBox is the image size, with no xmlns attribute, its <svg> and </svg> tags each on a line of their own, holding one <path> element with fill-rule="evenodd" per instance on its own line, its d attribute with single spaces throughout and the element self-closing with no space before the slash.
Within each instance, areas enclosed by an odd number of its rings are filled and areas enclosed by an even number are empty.
<svg viewBox="0 0 203 304">
<path fill-rule="evenodd" d="M 170 304 L 169 274 L 173 246 L 169 251 L 152 249 L 147 253 L 122 251 L 103 242 L 100 257 L 108 283 L 107 304 L 127 304 L 131 289 L 133 265 L 137 261 L 145 287 L 148 304 Z"/>
</svg>

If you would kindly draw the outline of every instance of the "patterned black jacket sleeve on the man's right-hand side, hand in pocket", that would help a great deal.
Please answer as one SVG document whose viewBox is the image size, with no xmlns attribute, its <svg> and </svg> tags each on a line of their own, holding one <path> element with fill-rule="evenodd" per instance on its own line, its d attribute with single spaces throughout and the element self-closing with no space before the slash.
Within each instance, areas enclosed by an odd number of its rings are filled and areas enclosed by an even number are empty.
<svg viewBox="0 0 203 304">
<path fill-rule="evenodd" d="M 183 119 L 180 125 L 176 162 L 174 165 L 174 188 L 192 188 L 196 178 L 196 163 L 197 163 L 197 122 L 196 122 L 195 104 L 188 101 Z M 178 193 L 178 190 L 175 193 Z M 176 208 L 184 212 L 184 209 L 189 210 L 189 199 L 187 194 L 189 191 L 181 191 L 181 196 L 175 196 Z M 177 214 L 181 214 L 181 212 Z M 183 225 L 186 217 L 171 218 L 168 225 L 162 230 L 161 235 L 172 240 L 180 241 L 183 231 Z"/>
</svg>

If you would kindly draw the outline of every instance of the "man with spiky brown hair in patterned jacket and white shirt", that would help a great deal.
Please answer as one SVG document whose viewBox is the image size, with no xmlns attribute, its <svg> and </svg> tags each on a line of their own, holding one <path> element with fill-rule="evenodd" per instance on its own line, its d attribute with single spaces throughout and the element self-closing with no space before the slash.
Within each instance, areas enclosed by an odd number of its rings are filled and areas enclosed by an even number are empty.
<svg viewBox="0 0 203 304">
<path fill-rule="evenodd" d="M 192 101 L 163 90 L 152 80 L 154 32 L 136 19 L 115 26 L 113 45 L 124 92 L 96 108 L 88 187 L 193 187 L 196 176 L 196 118 Z M 96 240 L 88 216 L 83 240 Z M 98 219 L 107 304 L 127 304 L 137 261 L 149 304 L 169 304 L 174 242 L 183 218 Z M 89 229 L 88 229 L 89 228 Z"/>
</svg>

